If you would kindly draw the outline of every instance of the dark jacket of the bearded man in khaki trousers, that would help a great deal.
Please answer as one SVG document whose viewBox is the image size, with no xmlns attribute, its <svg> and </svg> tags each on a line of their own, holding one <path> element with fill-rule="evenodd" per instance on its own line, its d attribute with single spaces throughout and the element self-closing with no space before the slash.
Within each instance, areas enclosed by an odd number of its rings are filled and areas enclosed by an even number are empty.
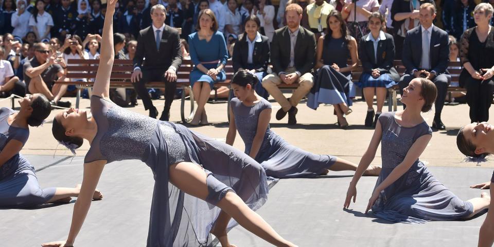
<svg viewBox="0 0 494 247">
<path fill-rule="evenodd" d="M 295 43 L 295 68 L 303 75 L 312 72 L 315 62 L 315 37 L 314 33 L 300 27 Z M 274 32 L 271 42 L 271 64 L 273 72 L 285 72 L 290 64 L 290 30 L 288 26 Z"/>
</svg>

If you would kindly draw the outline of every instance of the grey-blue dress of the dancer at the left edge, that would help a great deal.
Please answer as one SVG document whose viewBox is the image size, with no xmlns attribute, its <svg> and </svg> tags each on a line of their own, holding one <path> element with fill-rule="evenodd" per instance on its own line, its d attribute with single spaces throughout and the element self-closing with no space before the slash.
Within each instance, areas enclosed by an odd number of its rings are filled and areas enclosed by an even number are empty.
<svg viewBox="0 0 494 247">
<path fill-rule="evenodd" d="M 7 120 L 14 112 L 10 108 L 0 109 L 0 150 L 10 140 L 18 140 L 24 146 L 29 137 L 29 129 L 9 125 Z M 40 188 L 34 168 L 19 153 L 0 166 L 0 207 L 37 206 L 50 200 L 55 190 Z"/>
</svg>

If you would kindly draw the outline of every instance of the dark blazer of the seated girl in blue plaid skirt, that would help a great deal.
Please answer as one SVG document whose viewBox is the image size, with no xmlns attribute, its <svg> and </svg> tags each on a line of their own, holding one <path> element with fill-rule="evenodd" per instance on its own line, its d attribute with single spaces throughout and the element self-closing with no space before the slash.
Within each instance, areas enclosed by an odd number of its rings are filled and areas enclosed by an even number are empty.
<svg viewBox="0 0 494 247">
<path fill-rule="evenodd" d="M 396 71 L 393 60 L 395 59 L 395 42 L 393 36 L 384 33 L 386 39 L 379 40 L 377 43 L 377 61 L 374 52 L 374 42 L 367 41 L 367 37 L 371 33 L 365 35 L 360 40 L 359 44 L 359 59 L 362 62 L 363 71 L 372 73 L 372 70 L 377 68 L 381 74 L 390 74 L 391 79 L 399 81 L 400 76 Z"/>
</svg>

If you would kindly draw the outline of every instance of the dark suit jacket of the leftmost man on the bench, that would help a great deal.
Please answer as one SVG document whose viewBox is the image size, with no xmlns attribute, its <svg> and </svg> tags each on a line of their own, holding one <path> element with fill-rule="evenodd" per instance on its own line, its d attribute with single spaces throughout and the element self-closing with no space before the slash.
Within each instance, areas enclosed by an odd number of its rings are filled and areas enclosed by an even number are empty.
<svg viewBox="0 0 494 247">
<path fill-rule="evenodd" d="M 179 32 L 165 25 L 161 36 L 160 50 L 156 50 L 153 27 L 149 26 L 140 30 L 133 61 L 134 68 L 140 67 L 143 71 L 146 69 L 163 69 L 165 71 L 170 66 L 175 67 L 178 71 L 182 64 Z"/>
</svg>

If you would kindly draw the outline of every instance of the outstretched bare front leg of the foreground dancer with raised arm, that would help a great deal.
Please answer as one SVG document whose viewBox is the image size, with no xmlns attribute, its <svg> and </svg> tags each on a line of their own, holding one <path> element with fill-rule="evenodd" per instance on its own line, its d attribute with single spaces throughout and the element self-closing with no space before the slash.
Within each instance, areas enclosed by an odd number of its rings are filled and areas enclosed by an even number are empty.
<svg viewBox="0 0 494 247">
<path fill-rule="evenodd" d="M 169 168 L 170 182 L 191 196 L 205 200 L 208 191 L 206 173 L 198 165 L 181 162 Z M 217 204 L 246 230 L 276 246 L 296 246 L 279 236 L 258 214 L 250 209 L 234 192 L 227 192 Z"/>
</svg>

